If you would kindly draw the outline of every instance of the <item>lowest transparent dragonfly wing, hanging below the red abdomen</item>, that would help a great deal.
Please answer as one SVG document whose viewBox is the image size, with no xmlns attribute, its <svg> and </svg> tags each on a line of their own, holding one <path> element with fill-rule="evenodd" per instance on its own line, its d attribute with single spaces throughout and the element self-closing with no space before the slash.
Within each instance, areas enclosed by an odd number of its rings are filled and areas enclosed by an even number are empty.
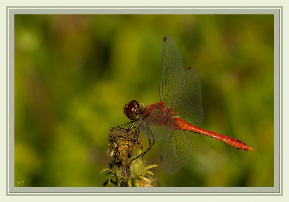
<svg viewBox="0 0 289 202">
<path fill-rule="evenodd" d="M 177 173 L 193 154 L 193 140 L 184 130 L 173 130 L 162 146 L 161 161 L 167 175 Z"/>
</svg>

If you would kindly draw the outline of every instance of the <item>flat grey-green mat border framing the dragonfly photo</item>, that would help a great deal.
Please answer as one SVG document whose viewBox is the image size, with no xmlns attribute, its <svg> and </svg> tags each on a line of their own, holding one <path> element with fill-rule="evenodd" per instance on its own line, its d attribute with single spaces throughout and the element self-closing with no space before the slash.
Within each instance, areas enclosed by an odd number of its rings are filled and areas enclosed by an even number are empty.
<svg viewBox="0 0 289 202">
<path fill-rule="evenodd" d="M 53 9 L 54 8 L 54 9 Z M 97 9 L 99 8 L 99 9 Z M 110 9 L 111 8 L 111 9 Z M 113 9 L 115 8 L 115 9 Z M 134 9 L 136 8 L 136 9 Z M 143 9 L 141 9 L 143 8 Z M 174 9 L 171 9 L 174 8 Z M 179 8 L 179 9 L 178 9 Z M 188 8 L 188 9 L 186 9 Z M 223 9 L 222 9 L 223 8 Z M 247 8 L 247 9 L 246 9 Z M 281 13 L 280 13 L 281 12 Z M 7 192 L 6 195 L 283 195 L 283 130 L 281 98 L 283 83 L 283 7 L 6 7 L 7 16 Z M 9 16 L 8 16 L 9 14 Z M 14 14 L 274 14 L 274 187 L 106 188 L 14 187 Z M 281 21 L 280 21 L 281 17 Z M 9 24 L 8 24 L 9 19 Z M 281 26 L 281 28 L 280 28 Z M 9 35 L 8 35 L 9 27 Z M 280 32 L 281 30 L 281 32 Z M 9 41 L 8 41 L 9 37 Z M 9 47 L 8 47 L 9 44 Z M 9 55 L 8 55 L 9 53 Z M 9 59 L 8 59 L 9 58 Z M 280 72 L 281 65 L 281 72 Z M 9 66 L 9 69 L 8 69 Z M 281 80 L 281 82 L 280 82 Z M 9 82 L 9 83 L 8 83 Z M 9 99 L 9 102 L 8 102 Z M 9 109 L 9 113 L 8 113 Z M 281 113 L 280 113 L 281 112 Z M 279 119 L 278 119 L 279 118 Z M 280 122 L 281 120 L 281 122 Z M 9 122 L 8 122 L 9 121 Z M 9 125 L 8 125 L 9 124 Z M 8 128 L 9 127 L 9 128 Z M 278 136 L 280 134 L 281 136 Z M 10 134 L 8 136 L 8 134 Z M 9 148 L 9 151 L 8 151 Z M 9 159 L 8 159 L 9 156 Z M 281 162 L 280 162 L 281 161 Z M 9 164 L 8 164 L 9 162 Z M 281 166 L 280 166 L 281 165 Z M 9 169 L 8 169 L 9 168 Z M 9 180 L 9 181 L 8 181 Z M 9 185 L 9 186 L 8 186 Z M 51 193 L 51 194 L 49 194 Z M 146 194 L 147 193 L 147 194 Z M 153 194 L 155 193 L 155 194 Z"/>
</svg>

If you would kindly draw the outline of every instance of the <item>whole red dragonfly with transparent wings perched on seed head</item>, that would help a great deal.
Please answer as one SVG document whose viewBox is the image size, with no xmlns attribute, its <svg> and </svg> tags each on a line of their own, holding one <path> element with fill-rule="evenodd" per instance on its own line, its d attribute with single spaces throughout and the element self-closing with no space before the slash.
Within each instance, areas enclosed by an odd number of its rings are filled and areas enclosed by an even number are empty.
<svg viewBox="0 0 289 202">
<path fill-rule="evenodd" d="M 163 41 L 160 102 L 140 106 L 132 100 L 125 105 L 123 112 L 132 120 L 127 124 L 136 122 L 129 129 L 139 124 L 136 139 L 140 130 L 149 139 L 147 151 L 155 141 L 165 139 L 160 158 L 168 175 L 177 173 L 192 157 L 193 140 L 187 131 L 212 137 L 237 149 L 254 151 L 242 141 L 197 127 L 204 117 L 199 73 L 192 66 L 185 73 L 179 48 L 170 35 L 166 35 Z"/>
</svg>

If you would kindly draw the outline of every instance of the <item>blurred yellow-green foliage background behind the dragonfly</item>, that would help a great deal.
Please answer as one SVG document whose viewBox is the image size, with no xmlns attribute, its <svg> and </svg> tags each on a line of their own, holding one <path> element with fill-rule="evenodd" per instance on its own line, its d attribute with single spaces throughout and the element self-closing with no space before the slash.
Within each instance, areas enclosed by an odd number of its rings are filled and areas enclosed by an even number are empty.
<svg viewBox="0 0 289 202">
<path fill-rule="evenodd" d="M 200 127 L 254 152 L 189 133 L 194 153 L 175 175 L 162 170 L 163 141 L 145 155 L 160 165 L 154 177 L 162 186 L 274 186 L 273 26 L 273 15 L 15 15 L 15 186 L 102 186 L 110 127 L 129 121 L 124 104 L 159 101 L 167 34 L 184 68 L 199 71 Z"/>
</svg>

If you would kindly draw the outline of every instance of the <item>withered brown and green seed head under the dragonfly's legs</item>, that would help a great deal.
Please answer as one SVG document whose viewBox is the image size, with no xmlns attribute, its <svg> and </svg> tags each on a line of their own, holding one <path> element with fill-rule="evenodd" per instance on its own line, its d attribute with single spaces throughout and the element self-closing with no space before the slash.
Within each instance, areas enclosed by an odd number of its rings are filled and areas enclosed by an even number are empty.
<svg viewBox="0 0 289 202">
<path fill-rule="evenodd" d="M 133 129 L 126 131 L 113 128 L 110 130 L 108 135 L 110 146 L 107 154 L 109 157 L 113 156 L 114 160 L 110 163 L 110 168 L 103 169 L 101 173 L 105 170 L 109 170 L 110 173 L 112 173 L 111 176 L 116 177 L 116 182 L 114 183 L 118 186 L 160 186 L 157 178 L 152 178 L 148 175 L 153 175 L 148 169 L 158 165 L 149 165 L 146 167 L 145 160 L 142 157 L 136 158 L 142 153 L 142 149 L 138 149 L 138 146 L 142 148 L 142 142 L 140 137 L 135 139 L 136 133 L 137 131 Z M 134 139 L 128 139 L 127 137 Z M 134 152 L 134 149 L 138 150 Z M 134 160 L 131 161 L 132 159 Z M 112 182 L 111 179 L 105 182 L 104 186 L 110 182 Z"/>
</svg>

